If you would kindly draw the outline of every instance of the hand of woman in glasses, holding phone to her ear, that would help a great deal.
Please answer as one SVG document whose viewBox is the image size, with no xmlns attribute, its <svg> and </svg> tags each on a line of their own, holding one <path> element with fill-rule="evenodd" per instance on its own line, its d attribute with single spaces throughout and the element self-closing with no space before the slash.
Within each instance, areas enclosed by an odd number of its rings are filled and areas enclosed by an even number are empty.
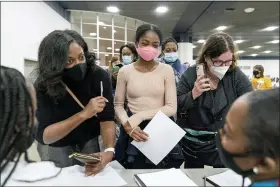
<svg viewBox="0 0 280 187">
<path fill-rule="evenodd" d="M 209 91 L 211 89 L 209 81 L 210 79 L 205 78 L 205 75 L 200 75 L 197 77 L 194 83 L 194 88 L 192 89 L 193 100 L 201 96 L 203 92 Z"/>
</svg>

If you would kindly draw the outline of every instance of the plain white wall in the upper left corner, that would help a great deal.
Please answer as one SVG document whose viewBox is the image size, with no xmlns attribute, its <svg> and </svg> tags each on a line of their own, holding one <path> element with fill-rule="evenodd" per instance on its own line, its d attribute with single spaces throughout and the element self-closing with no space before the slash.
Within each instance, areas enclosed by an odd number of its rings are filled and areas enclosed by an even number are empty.
<svg viewBox="0 0 280 187">
<path fill-rule="evenodd" d="M 70 23 L 44 2 L 1 2 L 1 65 L 24 73 L 24 59 L 37 61 L 42 39 Z"/>
</svg>

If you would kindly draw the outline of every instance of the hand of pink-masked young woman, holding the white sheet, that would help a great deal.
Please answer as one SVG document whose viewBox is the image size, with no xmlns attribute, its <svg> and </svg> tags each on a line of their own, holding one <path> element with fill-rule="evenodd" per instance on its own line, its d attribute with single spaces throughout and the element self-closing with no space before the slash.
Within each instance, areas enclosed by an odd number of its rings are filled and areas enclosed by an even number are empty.
<svg viewBox="0 0 280 187">
<path fill-rule="evenodd" d="M 142 131 L 140 129 L 140 127 L 134 127 L 132 128 L 129 124 L 129 122 L 127 122 L 124 125 L 124 130 L 126 131 L 127 134 L 129 134 L 129 136 L 131 138 L 133 138 L 133 140 L 135 140 L 136 142 L 145 142 L 148 140 L 149 135 L 147 133 L 145 133 L 144 131 Z"/>
</svg>

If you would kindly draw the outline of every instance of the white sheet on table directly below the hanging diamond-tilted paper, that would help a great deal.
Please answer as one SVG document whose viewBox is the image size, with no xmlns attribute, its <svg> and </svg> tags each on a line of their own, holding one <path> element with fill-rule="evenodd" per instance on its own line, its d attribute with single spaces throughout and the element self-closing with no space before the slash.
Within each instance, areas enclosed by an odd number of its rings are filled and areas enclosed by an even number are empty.
<svg viewBox="0 0 280 187">
<path fill-rule="evenodd" d="M 137 175 L 146 186 L 197 186 L 180 169 L 144 173 Z"/>
</svg>

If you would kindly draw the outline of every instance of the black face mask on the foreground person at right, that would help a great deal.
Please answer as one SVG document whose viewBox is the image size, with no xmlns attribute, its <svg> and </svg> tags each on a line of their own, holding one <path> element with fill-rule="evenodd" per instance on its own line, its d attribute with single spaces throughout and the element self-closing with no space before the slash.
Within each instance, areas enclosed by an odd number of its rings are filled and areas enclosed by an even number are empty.
<svg viewBox="0 0 280 187">
<path fill-rule="evenodd" d="M 247 170 L 247 171 L 244 171 L 242 170 L 233 160 L 234 157 L 248 157 L 249 155 L 251 154 L 247 154 L 247 153 L 241 153 L 241 154 L 234 154 L 234 153 L 230 153 L 228 152 L 227 150 L 225 150 L 221 144 L 221 137 L 220 137 L 220 134 L 217 133 L 216 134 L 216 146 L 218 148 L 218 152 L 219 152 L 219 155 L 220 155 L 220 158 L 223 162 L 223 164 L 233 170 L 234 172 L 236 172 L 237 174 L 239 175 L 242 175 L 243 178 L 245 177 L 248 177 L 249 175 L 254 175 L 254 171 L 253 169 L 250 169 L 250 170 Z"/>
</svg>

